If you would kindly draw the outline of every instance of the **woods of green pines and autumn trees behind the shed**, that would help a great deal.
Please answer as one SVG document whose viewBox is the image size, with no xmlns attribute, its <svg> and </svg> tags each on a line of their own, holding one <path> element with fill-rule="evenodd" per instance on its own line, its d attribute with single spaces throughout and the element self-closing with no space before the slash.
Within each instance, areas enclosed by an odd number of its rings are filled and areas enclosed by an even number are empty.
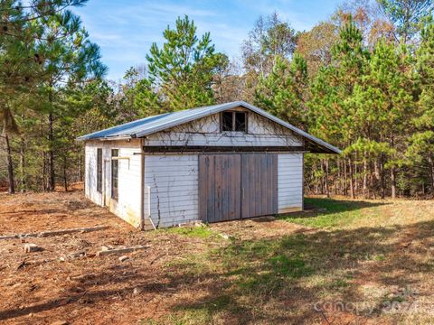
<svg viewBox="0 0 434 325">
<path fill-rule="evenodd" d="M 98 46 L 68 9 L 83 4 L 0 6 L 0 182 L 10 191 L 80 181 L 77 135 L 241 99 L 344 150 L 307 155 L 309 192 L 434 194 L 431 1 L 354 1 L 304 32 L 262 16 L 231 60 L 181 17 L 120 84 L 103 79 Z"/>
</svg>

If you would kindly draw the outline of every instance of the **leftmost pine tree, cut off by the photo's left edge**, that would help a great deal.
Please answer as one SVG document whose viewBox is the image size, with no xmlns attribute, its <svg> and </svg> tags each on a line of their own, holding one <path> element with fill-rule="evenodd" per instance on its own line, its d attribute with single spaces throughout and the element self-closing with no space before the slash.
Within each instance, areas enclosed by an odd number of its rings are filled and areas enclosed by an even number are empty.
<svg viewBox="0 0 434 325">
<path fill-rule="evenodd" d="M 61 15 L 70 5 L 85 0 L 32 1 L 23 5 L 15 0 L 0 3 L 0 122 L 3 124 L 8 157 L 9 191 L 14 192 L 14 167 L 10 135 L 17 134 L 15 122 L 19 103 L 25 101 L 45 78 L 42 53 L 42 22 Z M 22 98 L 23 97 L 23 98 Z"/>
</svg>

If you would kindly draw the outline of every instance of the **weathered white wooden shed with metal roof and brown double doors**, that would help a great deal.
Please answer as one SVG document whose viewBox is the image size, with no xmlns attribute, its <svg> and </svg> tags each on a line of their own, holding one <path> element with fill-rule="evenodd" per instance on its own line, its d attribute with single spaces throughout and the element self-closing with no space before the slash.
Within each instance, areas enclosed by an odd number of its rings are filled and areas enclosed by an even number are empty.
<svg viewBox="0 0 434 325">
<path fill-rule="evenodd" d="M 85 194 L 142 229 L 303 209 L 304 153 L 340 153 L 242 101 L 83 135 Z"/>
</svg>

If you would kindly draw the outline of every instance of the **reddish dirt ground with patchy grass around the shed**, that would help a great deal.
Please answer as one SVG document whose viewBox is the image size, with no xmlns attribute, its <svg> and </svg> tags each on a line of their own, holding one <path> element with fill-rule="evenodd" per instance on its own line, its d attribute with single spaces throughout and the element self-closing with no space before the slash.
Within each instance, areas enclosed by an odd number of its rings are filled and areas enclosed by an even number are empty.
<svg viewBox="0 0 434 325">
<path fill-rule="evenodd" d="M 80 191 L 0 194 L 0 235 L 108 227 L 0 240 L 0 322 L 434 323 L 433 202 L 310 203 L 326 209 L 140 232 Z"/>
</svg>

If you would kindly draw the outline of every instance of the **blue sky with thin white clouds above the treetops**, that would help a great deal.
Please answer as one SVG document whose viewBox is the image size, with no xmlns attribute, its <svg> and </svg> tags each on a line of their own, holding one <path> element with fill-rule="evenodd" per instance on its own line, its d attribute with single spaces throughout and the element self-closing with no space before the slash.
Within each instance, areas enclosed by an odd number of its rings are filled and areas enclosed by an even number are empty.
<svg viewBox="0 0 434 325">
<path fill-rule="evenodd" d="M 129 67 L 146 63 L 152 42 L 161 44 L 167 24 L 188 14 L 198 32 L 211 32 L 216 50 L 230 58 L 240 56 L 246 39 L 259 15 L 277 11 L 279 17 L 297 31 L 308 30 L 335 11 L 338 0 L 216 0 L 216 1 L 140 1 L 90 0 L 74 9 L 90 32 L 92 42 L 101 48 L 102 60 L 109 67 L 108 79 L 118 81 Z"/>
</svg>

